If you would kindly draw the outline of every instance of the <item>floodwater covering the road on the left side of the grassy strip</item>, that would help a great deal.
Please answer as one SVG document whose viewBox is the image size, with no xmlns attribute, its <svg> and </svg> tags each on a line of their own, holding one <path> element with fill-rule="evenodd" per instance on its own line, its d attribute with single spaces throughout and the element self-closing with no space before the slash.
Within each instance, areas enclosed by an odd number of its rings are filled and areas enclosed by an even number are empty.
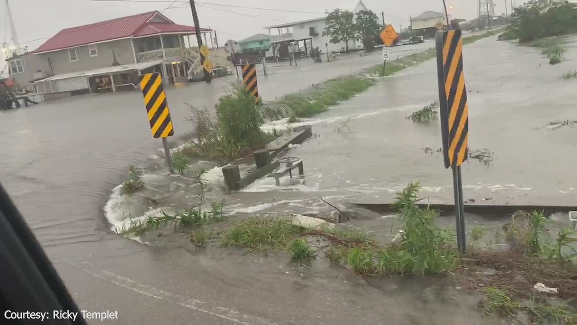
<svg viewBox="0 0 577 325">
<path fill-rule="evenodd" d="M 431 45 L 419 46 L 414 49 Z M 394 52 L 410 54 L 407 49 Z M 380 53 L 373 53 L 304 62 L 293 70 L 271 68 L 270 76 L 259 79 L 261 95 L 271 100 L 379 62 Z M 168 89 L 177 135 L 190 130 L 184 102 L 212 108 L 234 79 Z M 409 307 L 385 308 L 394 305 L 398 291 L 389 288 L 385 295 L 354 276 L 305 276 L 301 269 L 285 269 L 274 260 L 268 264 L 261 257 L 193 256 L 113 234 L 103 217 L 111 190 L 126 178 L 130 164 L 144 164 L 161 146 L 149 133 L 138 91 L 71 97 L 0 117 L 2 184 L 80 308 L 118 311 L 119 320 L 105 323 L 352 324 L 385 317 L 406 323 Z"/>
</svg>

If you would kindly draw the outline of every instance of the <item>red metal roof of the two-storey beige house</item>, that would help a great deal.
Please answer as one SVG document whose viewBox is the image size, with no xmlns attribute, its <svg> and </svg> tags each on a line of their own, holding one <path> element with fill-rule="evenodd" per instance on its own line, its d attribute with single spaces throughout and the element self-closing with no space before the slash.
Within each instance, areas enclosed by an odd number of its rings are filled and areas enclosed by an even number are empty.
<svg viewBox="0 0 577 325">
<path fill-rule="evenodd" d="M 159 14 L 163 19 L 166 19 L 167 23 L 147 23 L 155 14 Z M 203 28 L 203 30 L 208 31 L 209 29 Z M 153 11 L 62 29 L 31 53 L 42 53 L 106 40 L 166 32 L 194 32 L 194 27 L 175 24 L 158 11 Z"/>
</svg>

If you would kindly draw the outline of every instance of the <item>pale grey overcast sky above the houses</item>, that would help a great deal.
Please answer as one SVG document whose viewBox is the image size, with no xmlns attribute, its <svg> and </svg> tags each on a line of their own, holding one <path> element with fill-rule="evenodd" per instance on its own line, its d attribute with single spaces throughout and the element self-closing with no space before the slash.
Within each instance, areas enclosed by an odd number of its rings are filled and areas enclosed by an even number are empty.
<svg viewBox="0 0 577 325">
<path fill-rule="evenodd" d="M 181 1 L 183 0 L 177 0 L 173 8 L 163 11 L 170 3 L 9 0 L 18 40 L 23 43 L 23 47 L 28 46 L 29 50 L 36 49 L 44 41 L 29 42 L 30 40 L 50 37 L 63 28 L 152 10 L 161 11 L 176 23 L 193 25 L 190 7 L 186 3 L 181 3 Z M 197 0 L 197 7 L 201 27 L 215 29 L 218 32 L 219 43 L 222 44 L 227 39 L 240 40 L 258 32 L 266 34 L 267 29 L 263 29 L 263 26 L 266 25 L 305 20 L 316 17 L 318 14 L 230 8 L 209 5 L 208 3 L 323 13 L 325 9 L 331 10 L 344 1 L 346 0 L 243 0 L 242 2 L 238 0 Z M 455 17 L 472 19 L 477 15 L 477 1 L 447 0 L 447 6 L 454 6 L 451 14 Z M 511 0 L 493 1 L 496 3 L 495 13 L 501 14 L 505 11 L 504 2 L 508 1 L 510 3 Z M 354 0 L 352 2 L 354 3 Z M 385 22 L 393 24 L 396 29 L 399 28 L 399 24 L 402 24 L 403 27 L 409 25 L 409 15 L 417 16 L 425 10 L 443 11 L 442 0 L 363 0 L 363 2 L 370 10 L 379 14 L 379 17 L 380 13 L 384 12 Z M 387 3 L 386 5 L 384 4 L 385 2 Z M 520 3 L 521 0 L 516 2 Z M 4 3 L 0 3 L 0 10 L 1 16 L 5 17 Z M 10 40 L 10 31 L 6 30 L 8 28 L 5 28 L 5 24 L 0 25 L 0 28 L 2 28 L 2 42 Z"/>
</svg>

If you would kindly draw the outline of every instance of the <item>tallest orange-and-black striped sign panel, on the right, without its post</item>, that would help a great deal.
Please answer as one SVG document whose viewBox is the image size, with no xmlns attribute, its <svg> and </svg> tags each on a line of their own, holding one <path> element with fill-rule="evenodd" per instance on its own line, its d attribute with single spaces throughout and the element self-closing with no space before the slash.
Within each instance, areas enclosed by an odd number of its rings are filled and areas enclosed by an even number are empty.
<svg viewBox="0 0 577 325">
<path fill-rule="evenodd" d="M 459 29 L 437 32 L 437 75 L 445 168 L 467 160 L 469 108 L 463 76 L 463 39 Z"/>
</svg>

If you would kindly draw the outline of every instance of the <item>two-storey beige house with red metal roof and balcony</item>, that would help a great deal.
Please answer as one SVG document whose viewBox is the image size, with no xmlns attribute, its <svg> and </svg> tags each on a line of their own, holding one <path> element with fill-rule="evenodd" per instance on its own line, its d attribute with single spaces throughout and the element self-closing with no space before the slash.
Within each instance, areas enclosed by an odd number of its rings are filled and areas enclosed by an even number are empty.
<svg viewBox="0 0 577 325">
<path fill-rule="evenodd" d="M 6 61 L 17 88 L 43 94 L 136 87 L 141 73 L 153 71 L 165 83 L 176 82 L 202 69 L 198 50 L 190 47 L 195 32 L 147 12 L 62 29 L 38 49 Z"/>
</svg>

